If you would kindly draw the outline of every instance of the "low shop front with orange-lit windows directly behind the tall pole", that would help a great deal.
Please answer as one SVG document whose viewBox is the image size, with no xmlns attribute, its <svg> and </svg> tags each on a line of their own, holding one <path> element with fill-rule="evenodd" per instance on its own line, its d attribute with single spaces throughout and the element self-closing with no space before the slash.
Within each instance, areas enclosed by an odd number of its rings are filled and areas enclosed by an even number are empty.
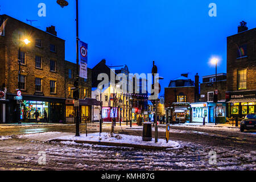
<svg viewBox="0 0 256 182">
<path fill-rule="evenodd" d="M 92 121 L 92 106 L 100 106 L 100 101 L 94 98 L 85 98 L 79 100 L 80 122 L 88 123 Z M 65 121 L 75 123 L 75 107 L 74 100 L 65 100 Z"/>
</svg>

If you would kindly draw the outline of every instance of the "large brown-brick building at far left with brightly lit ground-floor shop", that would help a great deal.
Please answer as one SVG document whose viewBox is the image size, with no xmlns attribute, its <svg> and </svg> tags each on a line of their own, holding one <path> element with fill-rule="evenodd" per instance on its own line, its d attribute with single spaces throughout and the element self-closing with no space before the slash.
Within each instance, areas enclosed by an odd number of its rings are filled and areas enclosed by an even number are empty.
<svg viewBox="0 0 256 182">
<path fill-rule="evenodd" d="M 34 121 L 35 110 L 43 119 L 46 110 L 49 122 L 64 121 L 65 104 L 65 40 L 57 38 L 55 27 L 39 30 L 7 15 L 5 31 L 0 36 L 0 90 L 7 89 L 6 122 L 16 122 L 19 105 L 14 96 L 18 89 L 18 50 L 20 46 L 20 90 L 23 122 Z M 1 23 L 2 24 L 2 23 Z M 23 40 L 30 40 L 24 44 Z"/>
</svg>

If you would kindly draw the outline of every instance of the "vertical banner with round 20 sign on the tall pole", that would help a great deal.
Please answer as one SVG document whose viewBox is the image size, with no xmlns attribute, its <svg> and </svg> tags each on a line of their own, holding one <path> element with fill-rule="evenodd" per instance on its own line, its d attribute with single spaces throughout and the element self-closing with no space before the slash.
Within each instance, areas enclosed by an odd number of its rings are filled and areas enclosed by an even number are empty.
<svg viewBox="0 0 256 182">
<path fill-rule="evenodd" d="M 88 48 L 88 44 L 80 41 L 79 42 L 79 47 L 80 47 L 80 53 L 79 53 L 79 60 L 80 60 L 80 74 L 79 76 L 81 78 L 85 78 L 87 79 L 87 64 L 88 64 L 88 60 L 87 60 L 87 48 Z"/>
</svg>

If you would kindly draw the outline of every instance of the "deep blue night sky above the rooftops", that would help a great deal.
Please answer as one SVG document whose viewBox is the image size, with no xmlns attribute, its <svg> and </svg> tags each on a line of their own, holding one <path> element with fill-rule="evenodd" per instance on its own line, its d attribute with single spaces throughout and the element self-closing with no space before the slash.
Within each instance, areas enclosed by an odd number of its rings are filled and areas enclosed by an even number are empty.
<svg viewBox="0 0 256 182">
<path fill-rule="evenodd" d="M 61 9 L 55 0 L 1 0 L 0 14 L 7 14 L 46 30 L 56 26 L 66 40 L 65 59 L 76 61 L 75 0 Z M 38 4 L 46 4 L 46 17 L 38 16 Z M 210 17 L 210 3 L 217 17 Z M 255 0 L 80 0 L 80 39 L 88 43 L 88 64 L 101 59 L 108 65 L 127 64 L 131 73 L 150 73 L 152 60 L 158 65 L 163 87 L 180 73 L 200 78 L 215 73 L 209 65 L 213 55 L 221 57 L 218 72 L 226 72 L 226 37 L 237 33 L 242 20 L 256 27 Z M 28 22 L 29 23 L 29 22 Z M 162 82 L 162 81 L 161 81 Z"/>
</svg>

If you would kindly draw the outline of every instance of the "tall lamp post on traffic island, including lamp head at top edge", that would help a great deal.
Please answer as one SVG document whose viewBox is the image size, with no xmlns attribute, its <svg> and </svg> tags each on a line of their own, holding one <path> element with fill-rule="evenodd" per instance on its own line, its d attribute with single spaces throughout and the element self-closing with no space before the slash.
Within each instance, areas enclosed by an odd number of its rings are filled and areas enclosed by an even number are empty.
<svg viewBox="0 0 256 182">
<path fill-rule="evenodd" d="M 65 0 L 57 0 L 57 4 L 60 5 L 62 8 L 64 6 L 68 6 L 68 2 Z M 76 0 L 76 80 L 74 82 L 75 86 L 75 100 L 79 101 L 79 1 Z M 80 115 L 79 115 L 79 106 L 76 106 L 76 135 L 75 137 L 80 137 L 79 133 L 79 122 L 80 122 Z"/>
</svg>

